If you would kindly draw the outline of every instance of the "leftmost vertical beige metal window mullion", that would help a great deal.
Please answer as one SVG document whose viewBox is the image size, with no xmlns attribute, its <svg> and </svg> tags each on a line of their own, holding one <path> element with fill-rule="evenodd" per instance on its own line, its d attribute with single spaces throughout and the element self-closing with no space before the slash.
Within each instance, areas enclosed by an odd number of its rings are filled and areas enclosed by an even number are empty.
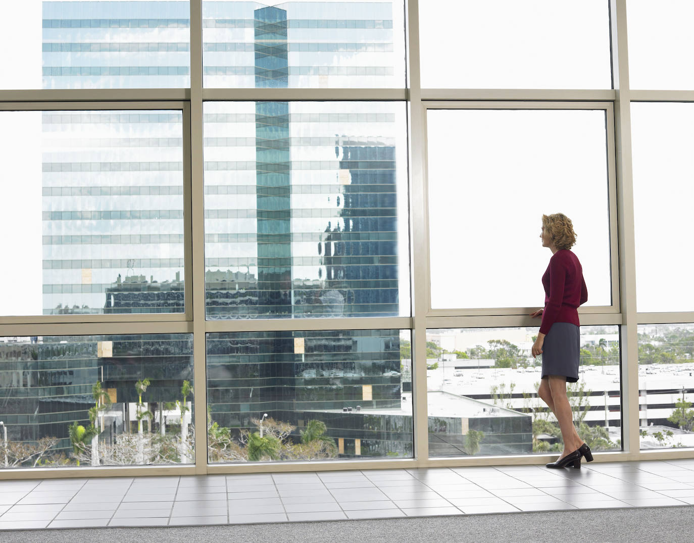
<svg viewBox="0 0 694 543">
<path fill-rule="evenodd" d="M 202 0 L 190 1 L 190 178 L 193 310 L 195 471 L 208 472 L 208 407 L 205 374 L 205 201 L 203 187 Z"/>
</svg>

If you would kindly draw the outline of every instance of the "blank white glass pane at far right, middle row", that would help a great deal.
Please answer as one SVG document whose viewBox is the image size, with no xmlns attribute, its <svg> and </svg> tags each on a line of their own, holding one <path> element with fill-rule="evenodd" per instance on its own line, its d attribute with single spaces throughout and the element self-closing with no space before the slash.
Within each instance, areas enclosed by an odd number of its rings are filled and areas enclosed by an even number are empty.
<svg viewBox="0 0 694 543">
<path fill-rule="evenodd" d="M 694 311 L 693 103 L 632 103 L 636 308 Z"/>
</svg>

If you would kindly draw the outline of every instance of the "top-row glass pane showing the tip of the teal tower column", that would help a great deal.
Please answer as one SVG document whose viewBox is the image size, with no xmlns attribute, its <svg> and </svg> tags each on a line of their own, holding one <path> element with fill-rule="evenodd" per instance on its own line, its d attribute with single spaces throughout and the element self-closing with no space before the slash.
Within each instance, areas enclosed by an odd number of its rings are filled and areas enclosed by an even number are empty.
<svg viewBox="0 0 694 543">
<path fill-rule="evenodd" d="M 203 1 L 205 87 L 403 87 L 403 0 Z"/>
</svg>

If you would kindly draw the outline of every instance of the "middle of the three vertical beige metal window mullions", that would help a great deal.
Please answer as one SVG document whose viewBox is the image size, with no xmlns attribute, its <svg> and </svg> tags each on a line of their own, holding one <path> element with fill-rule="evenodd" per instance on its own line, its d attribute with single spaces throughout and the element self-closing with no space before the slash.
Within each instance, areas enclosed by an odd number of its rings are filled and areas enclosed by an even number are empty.
<svg viewBox="0 0 694 543">
<path fill-rule="evenodd" d="M 410 282 L 412 293 L 412 423 L 416 465 L 429 461 L 427 395 L 428 266 L 425 203 L 425 117 L 421 99 L 419 67 L 419 1 L 407 2 L 407 76 L 409 78 L 409 231 Z"/>
</svg>

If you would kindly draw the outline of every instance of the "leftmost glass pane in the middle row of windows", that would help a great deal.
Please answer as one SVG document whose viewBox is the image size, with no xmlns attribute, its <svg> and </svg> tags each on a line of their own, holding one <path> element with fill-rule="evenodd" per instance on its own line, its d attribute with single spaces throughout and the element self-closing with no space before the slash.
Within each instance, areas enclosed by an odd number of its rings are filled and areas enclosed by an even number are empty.
<svg viewBox="0 0 694 543">
<path fill-rule="evenodd" d="M 180 111 L 0 112 L 3 315 L 183 312 Z M 21 258 L 20 258 L 21 256 Z"/>
</svg>

